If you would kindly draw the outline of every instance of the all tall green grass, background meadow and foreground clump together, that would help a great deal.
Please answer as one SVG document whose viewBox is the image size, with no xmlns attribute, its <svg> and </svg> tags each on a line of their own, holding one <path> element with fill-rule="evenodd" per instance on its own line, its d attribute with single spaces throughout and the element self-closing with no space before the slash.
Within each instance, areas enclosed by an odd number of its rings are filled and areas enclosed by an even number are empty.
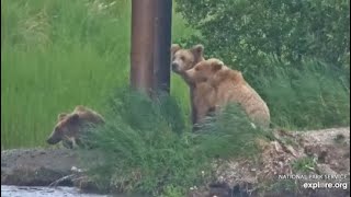
<svg viewBox="0 0 351 197">
<path fill-rule="evenodd" d="M 173 13 L 172 40 L 195 33 Z M 176 74 L 172 97 L 152 102 L 123 91 L 129 43 L 128 0 L 1 0 L 1 149 L 46 146 L 57 114 L 87 105 L 106 118 L 92 134 L 97 149 L 81 154 L 103 187 L 183 195 L 210 178 L 214 158 L 256 153 L 254 139 L 268 134 L 236 107 L 208 118 L 200 135 L 190 132 L 189 90 Z M 350 125 L 349 78 L 317 61 L 271 65 L 244 76 L 274 125 Z"/>
</svg>

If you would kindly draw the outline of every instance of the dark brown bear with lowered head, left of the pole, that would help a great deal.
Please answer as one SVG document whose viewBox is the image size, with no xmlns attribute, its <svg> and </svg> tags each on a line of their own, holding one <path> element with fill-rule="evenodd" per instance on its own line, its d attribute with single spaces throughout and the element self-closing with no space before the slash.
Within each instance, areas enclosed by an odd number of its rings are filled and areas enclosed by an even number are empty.
<svg viewBox="0 0 351 197">
<path fill-rule="evenodd" d="M 86 124 L 99 125 L 104 123 L 100 114 L 82 105 L 76 106 L 72 113 L 59 114 L 57 118 L 58 123 L 46 142 L 56 144 L 63 141 L 64 147 L 70 149 L 82 144 L 79 136 L 82 134 Z"/>
</svg>

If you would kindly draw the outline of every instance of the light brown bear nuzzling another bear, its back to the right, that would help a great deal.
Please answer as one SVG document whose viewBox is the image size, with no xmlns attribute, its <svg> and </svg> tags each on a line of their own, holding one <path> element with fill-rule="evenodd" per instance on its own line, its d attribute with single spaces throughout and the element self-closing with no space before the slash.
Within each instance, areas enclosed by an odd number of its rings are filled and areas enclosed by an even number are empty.
<svg viewBox="0 0 351 197">
<path fill-rule="evenodd" d="M 219 59 L 207 59 L 188 70 L 184 78 L 191 83 L 206 82 L 215 89 L 210 101 L 219 108 L 229 103 L 239 104 L 248 117 L 261 127 L 270 126 L 270 111 L 261 96 L 247 83 L 240 71 L 231 70 Z M 210 94 L 210 97 L 214 96 Z M 218 108 L 216 108 L 217 111 Z"/>
</svg>

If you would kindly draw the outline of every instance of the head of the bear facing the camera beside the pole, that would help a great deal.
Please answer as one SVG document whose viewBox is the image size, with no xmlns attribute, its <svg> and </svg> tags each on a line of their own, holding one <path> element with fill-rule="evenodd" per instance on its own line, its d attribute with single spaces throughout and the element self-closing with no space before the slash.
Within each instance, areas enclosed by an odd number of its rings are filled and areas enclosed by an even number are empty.
<svg viewBox="0 0 351 197">
<path fill-rule="evenodd" d="M 171 47 L 171 67 L 173 72 L 183 74 L 186 70 L 192 69 L 197 62 L 203 61 L 203 45 L 195 45 L 192 48 L 181 48 L 178 44 Z"/>
</svg>

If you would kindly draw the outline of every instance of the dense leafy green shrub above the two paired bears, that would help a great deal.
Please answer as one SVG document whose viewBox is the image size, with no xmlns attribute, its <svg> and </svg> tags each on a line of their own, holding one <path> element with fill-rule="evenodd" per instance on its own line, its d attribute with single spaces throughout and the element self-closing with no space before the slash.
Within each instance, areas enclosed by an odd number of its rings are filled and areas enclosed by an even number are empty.
<svg viewBox="0 0 351 197">
<path fill-rule="evenodd" d="M 207 54 L 251 71 L 264 56 L 350 67 L 350 1 L 177 0 Z M 248 66 L 250 66 L 248 68 Z"/>
</svg>

